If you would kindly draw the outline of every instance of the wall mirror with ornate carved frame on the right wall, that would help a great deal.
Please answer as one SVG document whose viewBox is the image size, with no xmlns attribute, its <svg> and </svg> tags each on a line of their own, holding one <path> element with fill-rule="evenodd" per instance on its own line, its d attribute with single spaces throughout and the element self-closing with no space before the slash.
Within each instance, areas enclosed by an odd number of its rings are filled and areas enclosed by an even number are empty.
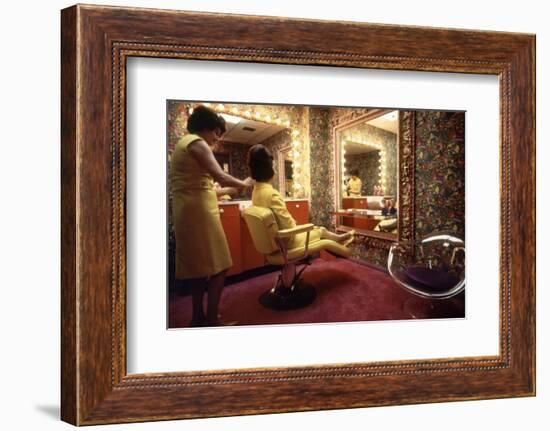
<svg viewBox="0 0 550 431">
<path fill-rule="evenodd" d="M 334 127 L 338 230 L 388 247 L 409 239 L 414 143 L 407 118 L 399 110 L 373 109 Z"/>
</svg>

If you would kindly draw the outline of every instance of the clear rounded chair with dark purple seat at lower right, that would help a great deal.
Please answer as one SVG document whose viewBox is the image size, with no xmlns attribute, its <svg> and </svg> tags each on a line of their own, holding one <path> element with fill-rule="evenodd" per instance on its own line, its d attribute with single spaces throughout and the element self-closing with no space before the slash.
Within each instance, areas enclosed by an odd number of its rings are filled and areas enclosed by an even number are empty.
<svg viewBox="0 0 550 431">
<path fill-rule="evenodd" d="M 464 291 L 465 254 L 464 241 L 446 232 L 392 244 L 388 253 L 390 275 L 402 288 L 422 298 L 405 301 L 404 311 L 414 318 L 445 317 L 445 304 L 436 300 Z"/>
</svg>

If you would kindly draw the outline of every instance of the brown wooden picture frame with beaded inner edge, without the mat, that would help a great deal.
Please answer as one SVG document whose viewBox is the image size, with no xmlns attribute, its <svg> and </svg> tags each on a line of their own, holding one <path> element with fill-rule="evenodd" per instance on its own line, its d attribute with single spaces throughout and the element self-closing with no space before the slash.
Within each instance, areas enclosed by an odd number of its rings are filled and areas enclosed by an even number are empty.
<svg viewBox="0 0 550 431">
<path fill-rule="evenodd" d="M 533 35 L 81 5 L 63 10 L 61 18 L 64 421 L 91 425 L 534 395 Z M 497 75 L 499 355 L 128 375 L 125 100 L 132 56 Z"/>
</svg>

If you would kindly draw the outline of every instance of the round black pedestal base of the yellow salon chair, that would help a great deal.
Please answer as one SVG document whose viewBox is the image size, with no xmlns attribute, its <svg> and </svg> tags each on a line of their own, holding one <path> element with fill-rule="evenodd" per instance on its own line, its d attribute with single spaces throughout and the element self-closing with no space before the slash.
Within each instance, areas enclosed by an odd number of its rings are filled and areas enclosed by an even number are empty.
<svg viewBox="0 0 550 431">
<path fill-rule="evenodd" d="M 272 289 L 260 295 L 259 301 L 265 308 L 271 310 L 296 310 L 307 307 L 316 296 L 315 288 L 301 279 L 288 288 L 282 285 L 279 277 Z"/>
</svg>

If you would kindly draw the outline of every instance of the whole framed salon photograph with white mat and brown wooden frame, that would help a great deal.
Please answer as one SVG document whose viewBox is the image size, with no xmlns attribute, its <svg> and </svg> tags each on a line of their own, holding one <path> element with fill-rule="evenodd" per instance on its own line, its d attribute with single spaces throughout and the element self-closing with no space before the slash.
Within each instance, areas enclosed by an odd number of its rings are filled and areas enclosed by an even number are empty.
<svg viewBox="0 0 550 431">
<path fill-rule="evenodd" d="M 534 395 L 534 47 L 63 10 L 62 419 Z"/>
</svg>

